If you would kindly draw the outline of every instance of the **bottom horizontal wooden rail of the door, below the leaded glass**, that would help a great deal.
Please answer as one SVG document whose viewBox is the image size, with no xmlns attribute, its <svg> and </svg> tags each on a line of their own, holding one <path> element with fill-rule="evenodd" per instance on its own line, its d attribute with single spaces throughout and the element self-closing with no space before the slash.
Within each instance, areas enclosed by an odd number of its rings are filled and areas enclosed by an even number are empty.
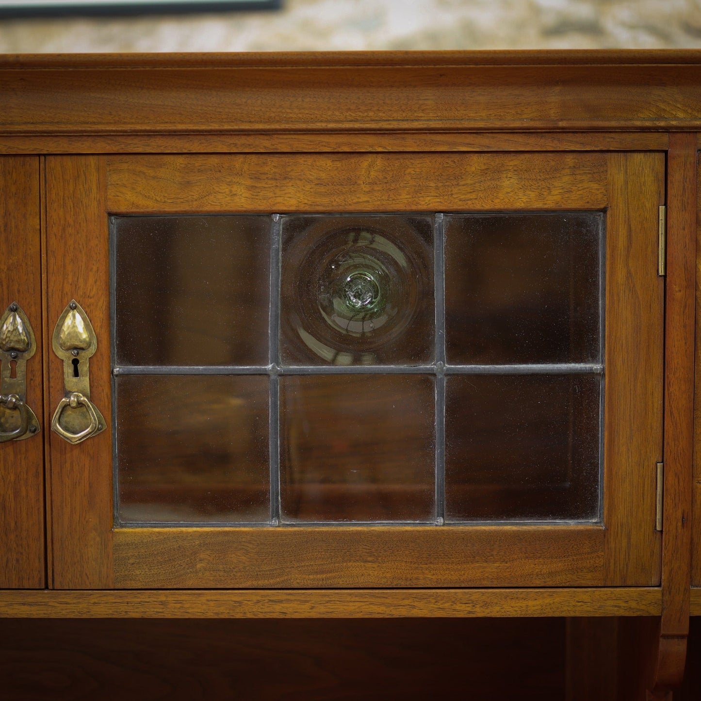
<svg viewBox="0 0 701 701">
<path fill-rule="evenodd" d="M 114 531 L 114 584 L 177 587 L 593 586 L 599 526 L 134 528 Z"/>
</svg>

